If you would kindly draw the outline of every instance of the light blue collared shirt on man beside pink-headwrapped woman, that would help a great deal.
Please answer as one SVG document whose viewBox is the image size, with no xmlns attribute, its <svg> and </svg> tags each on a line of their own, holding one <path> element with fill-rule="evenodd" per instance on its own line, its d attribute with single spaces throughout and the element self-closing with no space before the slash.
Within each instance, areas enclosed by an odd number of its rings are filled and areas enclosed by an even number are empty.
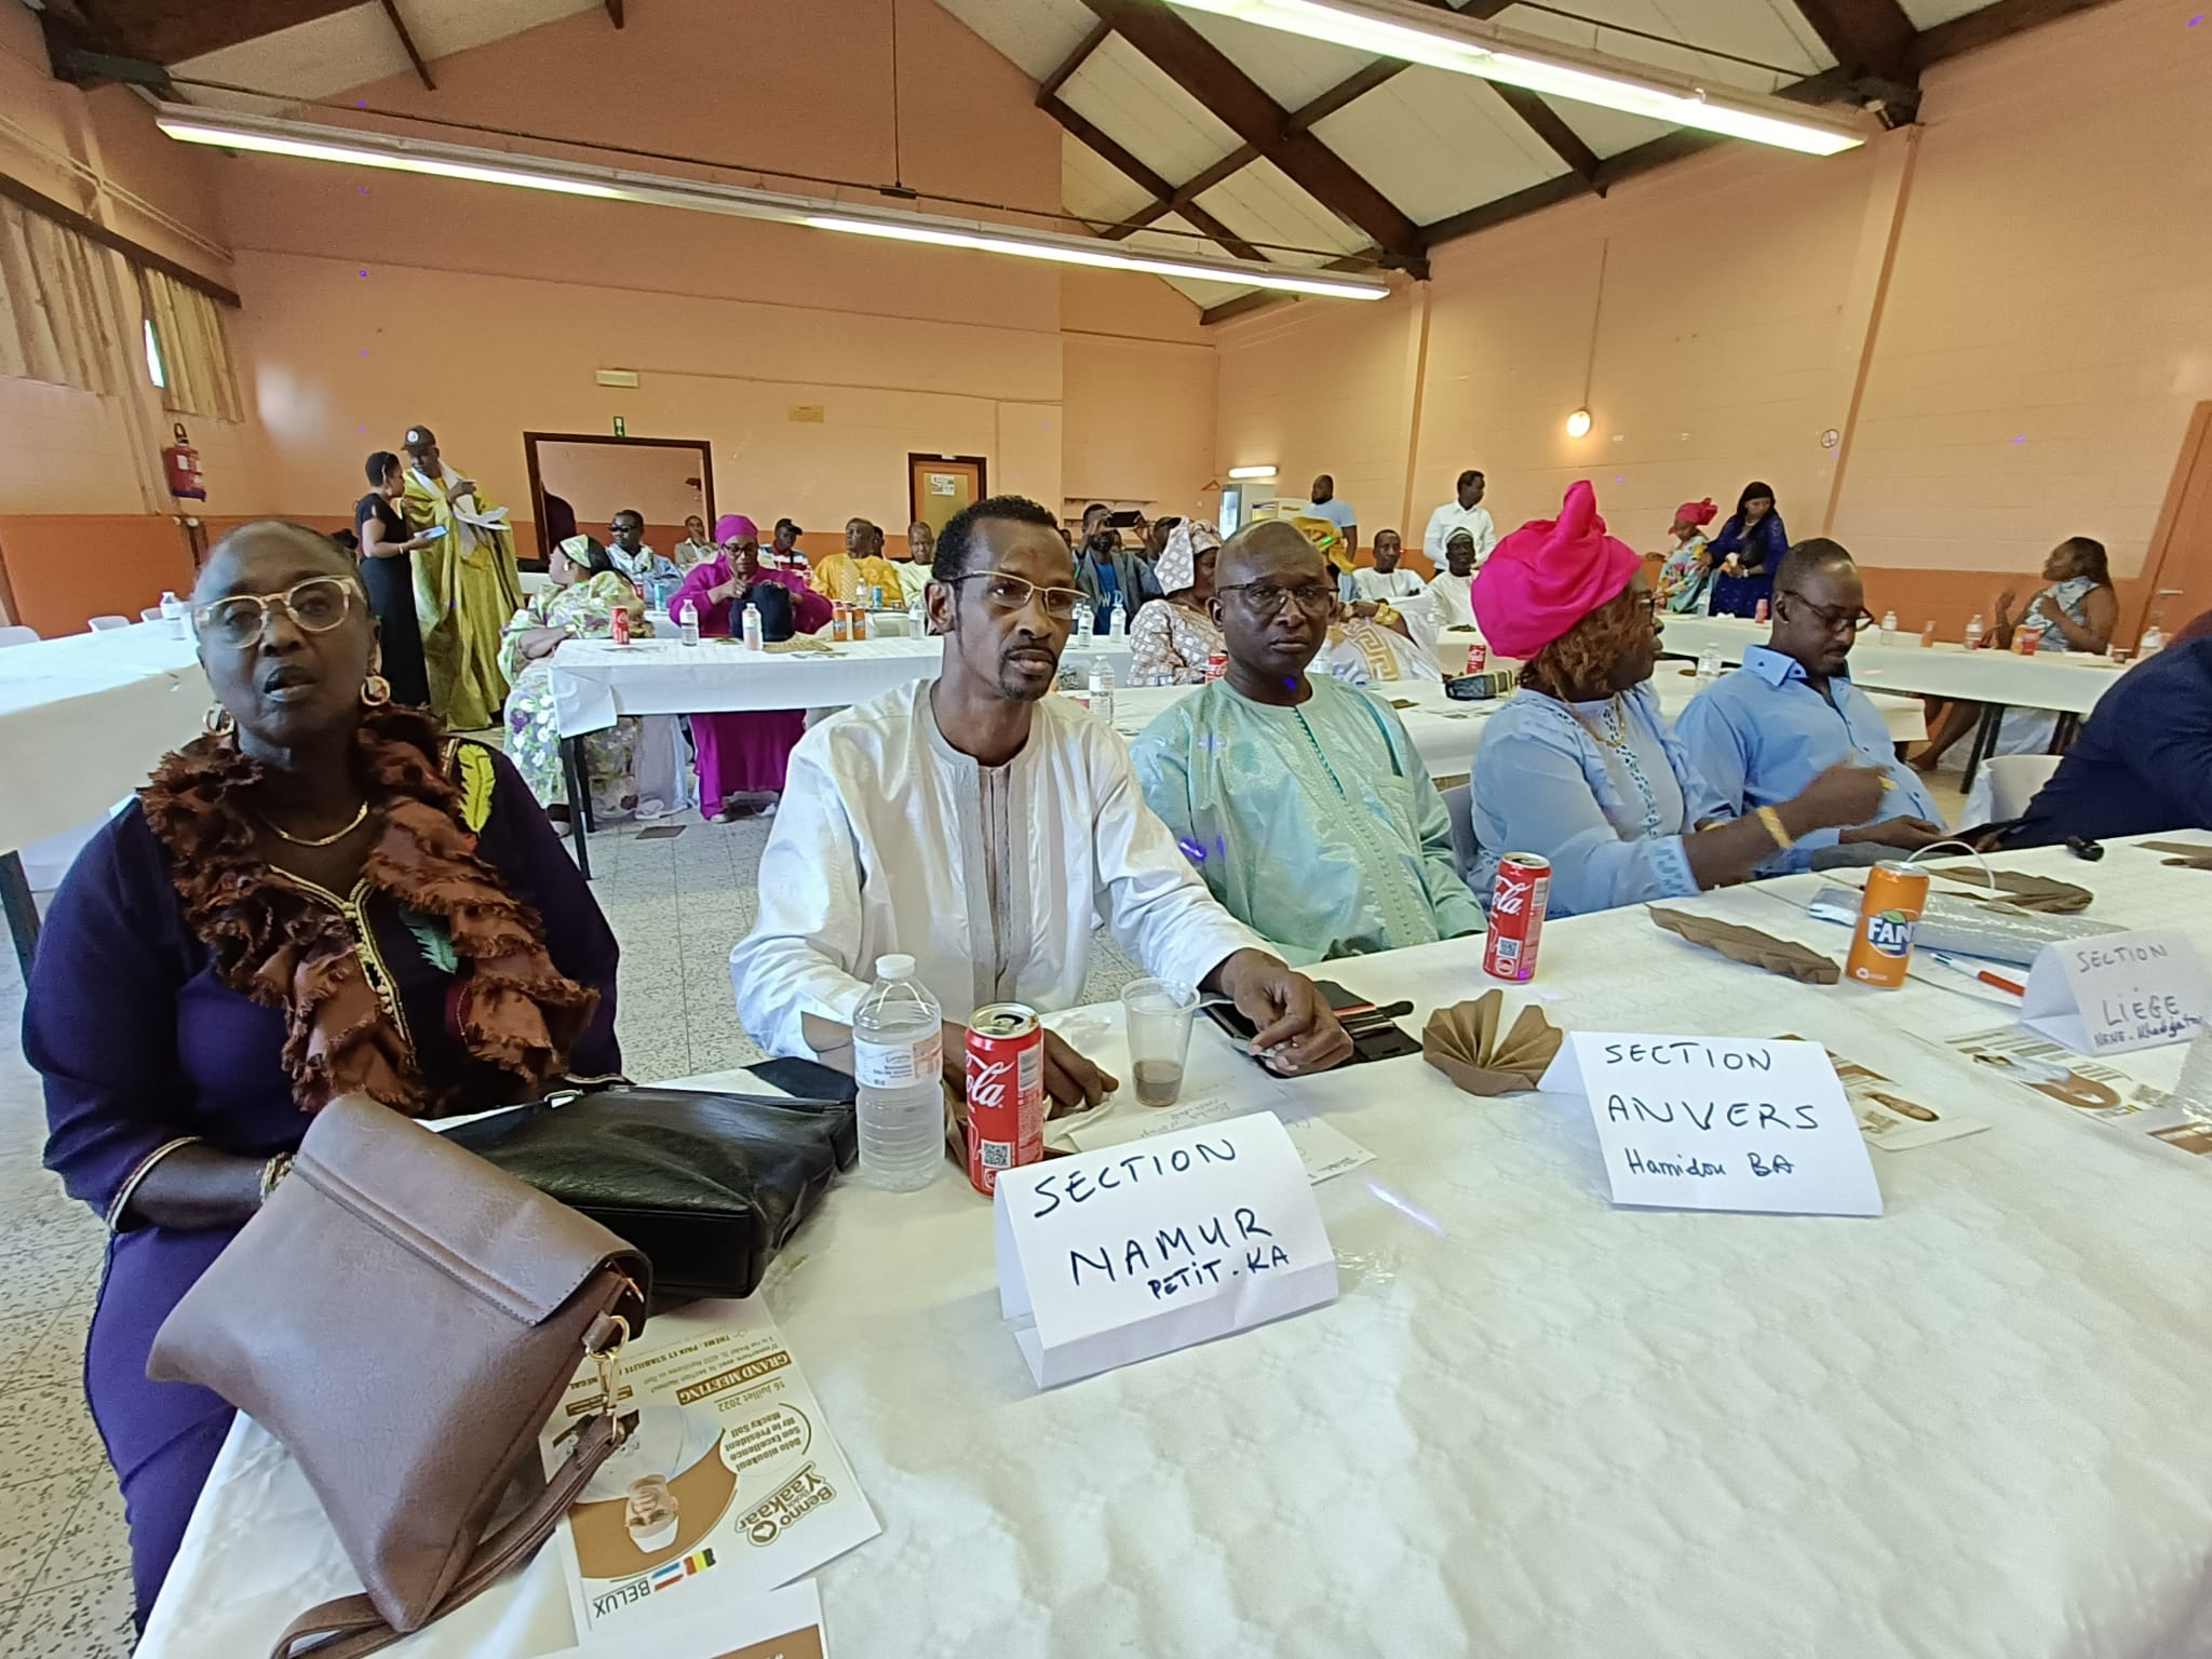
<svg viewBox="0 0 2212 1659">
<path fill-rule="evenodd" d="M 1736 814 L 1772 807 L 1805 792 L 1820 772 L 1845 761 L 1889 776 L 1876 818 L 1942 823 L 1920 774 L 1898 759 L 1889 726 L 1847 672 L 1829 675 L 1827 697 L 1805 679 L 1805 666 L 1772 646 L 1747 646 L 1743 668 L 1701 690 L 1674 721 L 1690 763 Z M 1759 867 L 1761 876 L 1809 869 L 1840 832 L 1816 830 Z"/>
</svg>

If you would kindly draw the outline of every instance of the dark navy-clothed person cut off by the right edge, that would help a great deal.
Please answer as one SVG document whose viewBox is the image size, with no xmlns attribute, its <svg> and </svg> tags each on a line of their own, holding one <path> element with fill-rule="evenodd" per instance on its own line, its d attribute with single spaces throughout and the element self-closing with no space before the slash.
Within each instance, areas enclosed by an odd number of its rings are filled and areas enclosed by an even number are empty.
<svg viewBox="0 0 2212 1659">
<path fill-rule="evenodd" d="M 2119 677 L 2006 847 L 2212 830 L 2212 637 Z"/>
</svg>

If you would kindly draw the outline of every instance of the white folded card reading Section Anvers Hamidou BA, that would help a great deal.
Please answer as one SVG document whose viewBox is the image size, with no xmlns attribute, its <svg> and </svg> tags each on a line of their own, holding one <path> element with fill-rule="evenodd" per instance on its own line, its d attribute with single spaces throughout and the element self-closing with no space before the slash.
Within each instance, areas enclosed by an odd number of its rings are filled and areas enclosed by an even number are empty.
<svg viewBox="0 0 2212 1659">
<path fill-rule="evenodd" d="M 1615 1203 L 1882 1212 L 1851 1102 L 1816 1042 L 1577 1031 L 1542 1088 L 1588 1095 Z"/>
</svg>

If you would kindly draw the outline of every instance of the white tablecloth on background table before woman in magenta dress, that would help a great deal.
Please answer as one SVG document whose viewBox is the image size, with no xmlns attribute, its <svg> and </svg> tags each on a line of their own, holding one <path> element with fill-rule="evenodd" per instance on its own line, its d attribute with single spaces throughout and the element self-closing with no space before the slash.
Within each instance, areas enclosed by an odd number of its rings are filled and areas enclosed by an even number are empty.
<svg viewBox="0 0 2212 1659">
<path fill-rule="evenodd" d="M 1128 679 L 1128 641 L 1095 646 L 1115 679 Z M 1071 648 L 1071 661 L 1091 653 Z M 686 646 L 675 637 L 617 646 L 571 639 L 553 655 L 553 706 L 562 737 L 597 732 L 622 714 L 723 714 L 757 708 L 845 708 L 933 677 L 945 641 L 860 639 L 827 650 L 754 653 L 732 639 Z"/>
</svg>

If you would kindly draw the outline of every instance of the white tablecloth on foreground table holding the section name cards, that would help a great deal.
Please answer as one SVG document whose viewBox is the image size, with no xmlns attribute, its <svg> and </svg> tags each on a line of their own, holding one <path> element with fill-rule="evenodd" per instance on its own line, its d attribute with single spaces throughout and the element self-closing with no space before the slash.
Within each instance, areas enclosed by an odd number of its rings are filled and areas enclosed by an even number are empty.
<svg viewBox="0 0 2212 1659">
<path fill-rule="evenodd" d="M 2008 863 L 2212 947 L 2208 876 Z M 1759 889 L 1694 902 L 1843 949 Z M 1473 942 L 1334 973 L 1413 1031 L 1484 989 Z M 1803 987 L 1615 911 L 1546 929 L 1535 993 L 1571 1029 L 1818 1037 L 1991 1128 L 1876 1150 L 1876 1221 L 1641 1212 L 1582 1102 L 1420 1060 L 1312 1077 L 1298 1104 L 1376 1152 L 1316 1190 L 1340 1301 L 1051 1394 L 958 1175 L 841 1186 L 763 1290 L 883 1517 L 821 1573 L 836 1650 L 2212 1652 L 2212 1170 L 1909 1035 L 2004 1018 L 1969 991 Z M 1117 1018 L 1077 1020 L 1113 1064 Z M 1252 1075 L 1201 1024 L 1190 1088 Z M 263 1652 L 347 1588 L 239 1425 L 139 1659 Z M 566 1639 L 542 1557 L 394 1655 Z"/>
</svg>

